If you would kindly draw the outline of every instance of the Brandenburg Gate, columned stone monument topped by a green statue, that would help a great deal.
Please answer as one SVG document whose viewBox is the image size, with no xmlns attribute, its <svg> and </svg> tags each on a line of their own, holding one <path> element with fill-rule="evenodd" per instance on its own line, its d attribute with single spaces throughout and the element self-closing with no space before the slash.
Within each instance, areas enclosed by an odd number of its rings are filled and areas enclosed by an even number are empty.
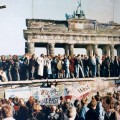
<svg viewBox="0 0 120 120">
<path fill-rule="evenodd" d="M 46 47 L 47 54 L 54 56 L 55 47 L 63 47 L 66 55 L 74 54 L 74 48 L 85 48 L 87 55 L 120 56 L 120 24 L 99 23 L 86 19 L 81 3 L 66 20 L 27 19 L 24 30 L 25 52 L 35 53 L 35 47 Z"/>
</svg>

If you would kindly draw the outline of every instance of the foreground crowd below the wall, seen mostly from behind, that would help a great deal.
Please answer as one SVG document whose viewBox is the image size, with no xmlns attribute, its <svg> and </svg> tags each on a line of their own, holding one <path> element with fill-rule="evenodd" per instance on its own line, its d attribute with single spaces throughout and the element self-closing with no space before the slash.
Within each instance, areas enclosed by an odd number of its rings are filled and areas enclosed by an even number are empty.
<svg viewBox="0 0 120 120">
<path fill-rule="evenodd" d="M 74 102 L 61 96 L 58 105 L 40 105 L 33 96 L 0 99 L 0 120 L 120 120 L 120 93 Z"/>
</svg>

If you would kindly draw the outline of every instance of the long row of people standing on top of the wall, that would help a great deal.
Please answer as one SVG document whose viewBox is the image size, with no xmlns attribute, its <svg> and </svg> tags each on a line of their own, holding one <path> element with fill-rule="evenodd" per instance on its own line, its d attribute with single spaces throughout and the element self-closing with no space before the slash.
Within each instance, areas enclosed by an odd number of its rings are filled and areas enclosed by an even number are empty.
<svg viewBox="0 0 120 120">
<path fill-rule="evenodd" d="M 120 57 L 114 59 L 96 54 L 86 55 L 44 55 L 35 54 L 0 56 L 1 81 L 33 79 L 62 79 L 84 77 L 119 77 Z"/>
</svg>

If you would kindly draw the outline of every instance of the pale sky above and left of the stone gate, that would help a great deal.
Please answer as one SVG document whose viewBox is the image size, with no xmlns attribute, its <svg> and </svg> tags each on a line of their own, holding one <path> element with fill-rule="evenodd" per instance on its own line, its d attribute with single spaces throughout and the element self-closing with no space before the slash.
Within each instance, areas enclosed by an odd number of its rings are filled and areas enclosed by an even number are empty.
<svg viewBox="0 0 120 120">
<path fill-rule="evenodd" d="M 77 0 L 0 0 L 7 6 L 0 9 L 0 55 L 25 52 L 23 29 L 28 18 L 65 20 L 65 13 L 72 14 L 76 10 Z M 113 16 L 113 0 L 82 0 L 82 8 L 86 18 L 99 22 L 113 20 L 120 23 L 120 0 L 115 0 Z"/>
</svg>

